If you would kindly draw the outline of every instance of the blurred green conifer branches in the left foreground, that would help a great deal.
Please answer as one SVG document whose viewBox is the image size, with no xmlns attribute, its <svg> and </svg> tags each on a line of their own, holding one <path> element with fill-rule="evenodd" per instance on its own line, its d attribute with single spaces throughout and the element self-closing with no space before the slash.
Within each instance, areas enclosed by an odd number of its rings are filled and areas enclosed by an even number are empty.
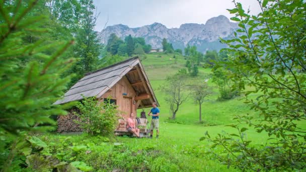
<svg viewBox="0 0 306 172">
<path fill-rule="evenodd" d="M 12 170 L 21 132 L 49 129 L 41 124 L 55 124 L 50 115 L 65 114 L 64 107 L 52 104 L 69 81 L 60 75 L 74 60 L 61 55 L 73 41 L 50 42 L 44 27 L 49 17 L 31 14 L 38 5 L 38 0 L 0 1 L 0 152 L 4 155 L 0 168 L 4 171 Z M 29 36 L 35 39 L 25 43 Z M 51 52 L 54 47 L 57 50 Z M 3 153 L 8 147 L 10 153 Z"/>
</svg>

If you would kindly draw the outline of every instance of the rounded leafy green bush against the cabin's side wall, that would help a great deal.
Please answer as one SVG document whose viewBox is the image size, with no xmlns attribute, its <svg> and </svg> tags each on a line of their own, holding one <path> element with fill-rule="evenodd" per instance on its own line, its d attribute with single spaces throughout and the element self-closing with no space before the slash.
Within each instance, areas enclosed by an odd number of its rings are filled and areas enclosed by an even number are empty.
<svg viewBox="0 0 306 172">
<path fill-rule="evenodd" d="M 104 136 L 110 136 L 114 133 L 118 120 L 118 110 L 116 105 L 110 102 L 98 102 L 95 97 L 87 98 L 77 105 L 80 110 L 75 113 L 81 120 L 75 121 L 81 125 L 85 132 Z"/>
</svg>

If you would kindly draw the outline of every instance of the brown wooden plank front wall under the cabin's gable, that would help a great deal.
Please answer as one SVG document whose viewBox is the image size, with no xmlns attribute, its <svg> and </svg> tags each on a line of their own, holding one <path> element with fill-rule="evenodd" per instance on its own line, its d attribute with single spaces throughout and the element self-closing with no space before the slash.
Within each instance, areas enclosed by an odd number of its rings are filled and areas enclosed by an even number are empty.
<svg viewBox="0 0 306 172">
<path fill-rule="evenodd" d="M 116 100 L 121 117 L 127 119 L 129 118 L 130 113 L 134 113 L 134 116 L 136 116 L 136 108 L 135 105 L 133 105 L 136 92 L 132 88 L 126 76 L 123 76 L 122 79 L 108 90 L 108 92 L 101 97 L 101 101 L 103 101 L 103 98 L 108 98 L 109 96 L 111 96 L 111 99 Z"/>
</svg>

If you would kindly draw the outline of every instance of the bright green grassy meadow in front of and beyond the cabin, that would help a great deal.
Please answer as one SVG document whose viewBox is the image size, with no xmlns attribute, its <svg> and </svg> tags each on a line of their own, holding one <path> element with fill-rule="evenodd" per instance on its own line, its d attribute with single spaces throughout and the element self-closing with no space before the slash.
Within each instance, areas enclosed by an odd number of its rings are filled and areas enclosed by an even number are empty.
<svg viewBox="0 0 306 172">
<path fill-rule="evenodd" d="M 190 98 L 180 106 L 177 113 L 177 123 L 169 123 L 169 105 L 159 86 L 165 82 L 167 75 L 172 75 L 183 68 L 185 59 L 176 54 L 151 53 L 142 60 L 150 84 L 155 91 L 160 110 L 160 138 L 137 139 L 130 137 L 90 137 L 81 135 L 46 134 L 41 138 L 50 143 L 49 152 L 58 154 L 60 160 L 84 161 L 92 171 L 238 171 L 232 167 L 220 164 L 214 155 L 207 153 L 207 141 L 199 141 L 208 131 L 214 137 L 217 133 L 236 132 L 234 128 L 225 125 L 236 123 L 235 115 L 249 114 L 258 119 L 257 112 L 249 110 L 241 98 L 230 101 L 217 102 L 218 90 L 213 88 L 213 94 L 202 104 L 202 120 L 199 122 L 199 107 Z M 210 69 L 199 67 L 197 79 L 209 78 Z M 191 80 L 194 78 L 190 78 Z M 256 97 L 258 95 L 252 95 Z M 148 112 L 149 109 L 145 109 Z M 141 109 L 137 116 L 140 116 Z M 180 124 L 179 124 L 180 123 Z M 265 133 L 258 134 L 255 130 L 247 130 L 247 139 L 253 144 L 264 144 Z M 58 144 L 61 143 L 61 144 Z M 83 146 L 83 149 L 73 150 L 74 146 Z M 70 147 L 69 147 L 70 146 Z M 87 151 L 86 151 L 87 150 Z M 218 151 L 218 148 L 215 148 Z M 88 151 L 90 151 L 88 153 Z M 81 168 L 80 168 L 81 169 Z"/>
</svg>

